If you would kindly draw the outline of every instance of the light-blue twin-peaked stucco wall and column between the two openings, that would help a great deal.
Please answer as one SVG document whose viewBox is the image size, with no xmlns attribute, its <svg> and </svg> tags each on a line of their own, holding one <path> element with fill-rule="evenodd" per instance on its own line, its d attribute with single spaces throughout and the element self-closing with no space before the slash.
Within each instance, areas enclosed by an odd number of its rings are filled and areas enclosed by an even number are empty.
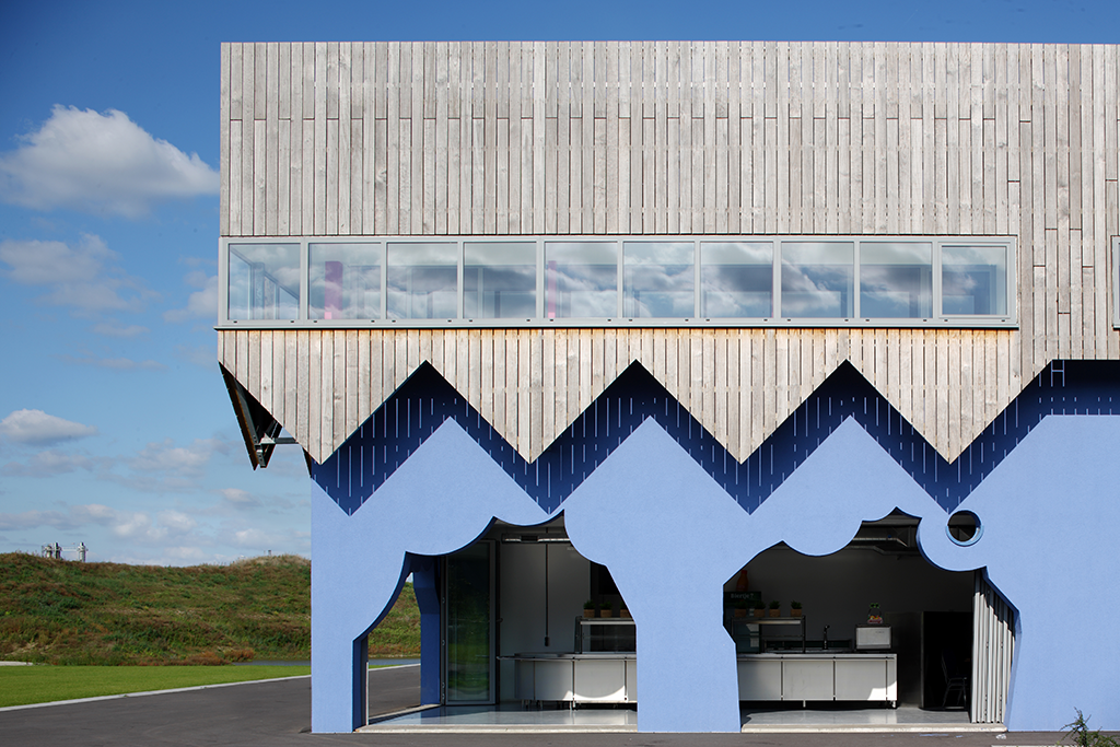
<svg viewBox="0 0 1120 747">
<path fill-rule="evenodd" d="M 637 624 L 638 729 L 738 731 L 724 583 L 785 541 L 828 554 L 895 507 L 944 514 L 855 421 L 841 424 L 748 514 L 654 420 L 563 504 L 580 553 L 607 566 Z"/>
</svg>

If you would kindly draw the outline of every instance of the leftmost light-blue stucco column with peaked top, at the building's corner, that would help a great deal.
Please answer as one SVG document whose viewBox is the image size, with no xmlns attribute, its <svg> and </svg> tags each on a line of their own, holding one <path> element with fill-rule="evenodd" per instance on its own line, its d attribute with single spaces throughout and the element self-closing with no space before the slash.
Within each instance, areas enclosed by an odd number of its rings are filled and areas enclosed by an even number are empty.
<svg viewBox="0 0 1120 747">
<path fill-rule="evenodd" d="M 349 485 L 355 483 L 372 480 Z M 454 420 L 351 514 L 311 486 L 312 731 L 364 726 L 364 638 L 392 607 L 410 570 L 421 609 L 422 698 L 439 702 L 437 558 L 469 545 L 495 517 L 532 525 L 550 514 Z"/>
</svg>

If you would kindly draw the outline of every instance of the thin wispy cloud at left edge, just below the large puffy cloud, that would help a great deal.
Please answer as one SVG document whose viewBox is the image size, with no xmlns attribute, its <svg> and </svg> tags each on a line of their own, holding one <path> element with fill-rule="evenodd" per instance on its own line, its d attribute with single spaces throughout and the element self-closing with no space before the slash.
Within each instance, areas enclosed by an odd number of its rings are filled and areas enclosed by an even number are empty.
<svg viewBox="0 0 1120 747">
<path fill-rule="evenodd" d="M 80 312 L 138 311 L 158 297 L 143 282 L 115 267 L 116 252 L 100 236 L 83 235 L 69 245 L 62 241 L 0 242 L 3 276 L 25 286 L 47 286 L 39 302 L 68 306 Z"/>
</svg>

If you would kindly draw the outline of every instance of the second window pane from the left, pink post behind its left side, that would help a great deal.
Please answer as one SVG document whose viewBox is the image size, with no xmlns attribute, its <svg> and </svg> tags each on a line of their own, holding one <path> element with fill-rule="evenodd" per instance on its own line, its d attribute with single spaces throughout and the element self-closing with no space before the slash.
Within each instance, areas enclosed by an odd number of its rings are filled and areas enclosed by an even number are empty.
<svg viewBox="0 0 1120 747">
<path fill-rule="evenodd" d="M 308 316 L 381 318 L 381 244 L 311 244 Z"/>
</svg>

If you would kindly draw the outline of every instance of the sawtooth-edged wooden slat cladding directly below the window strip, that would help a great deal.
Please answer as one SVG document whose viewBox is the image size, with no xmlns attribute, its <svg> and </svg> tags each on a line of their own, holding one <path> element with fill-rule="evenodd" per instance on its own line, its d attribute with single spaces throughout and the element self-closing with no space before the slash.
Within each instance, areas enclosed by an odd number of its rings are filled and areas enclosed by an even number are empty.
<svg viewBox="0 0 1120 747">
<path fill-rule="evenodd" d="M 634 361 L 739 460 L 851 361 L 953 460 L 1027 383 L 1008 365 L 1017 336 L 956 329 L 224 330 L 218 360 L 317 461 L 423 362 L 533 460 Z"/>
</svg>

